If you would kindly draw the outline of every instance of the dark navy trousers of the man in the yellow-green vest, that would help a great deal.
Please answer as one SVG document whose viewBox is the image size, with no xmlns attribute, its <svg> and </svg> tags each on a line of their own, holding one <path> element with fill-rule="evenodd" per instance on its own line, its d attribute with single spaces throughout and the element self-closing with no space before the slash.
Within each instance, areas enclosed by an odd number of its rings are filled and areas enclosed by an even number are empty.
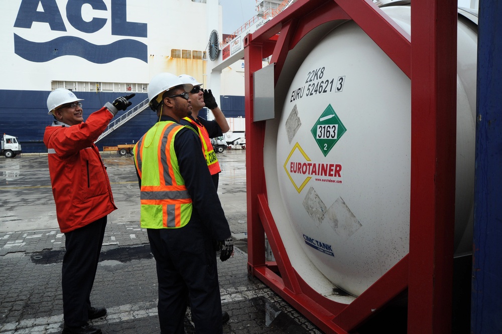
<svg viewBox="0 0 502 334">
<path fill-rule="evenodd" d="M 178 229 L 148 229 L 159 280 L 162 334 L 183 334 L 187 293 L 195 332 L 223 331 L 216 254 L 208 231 L 191 221 Z"/>
</svg>

